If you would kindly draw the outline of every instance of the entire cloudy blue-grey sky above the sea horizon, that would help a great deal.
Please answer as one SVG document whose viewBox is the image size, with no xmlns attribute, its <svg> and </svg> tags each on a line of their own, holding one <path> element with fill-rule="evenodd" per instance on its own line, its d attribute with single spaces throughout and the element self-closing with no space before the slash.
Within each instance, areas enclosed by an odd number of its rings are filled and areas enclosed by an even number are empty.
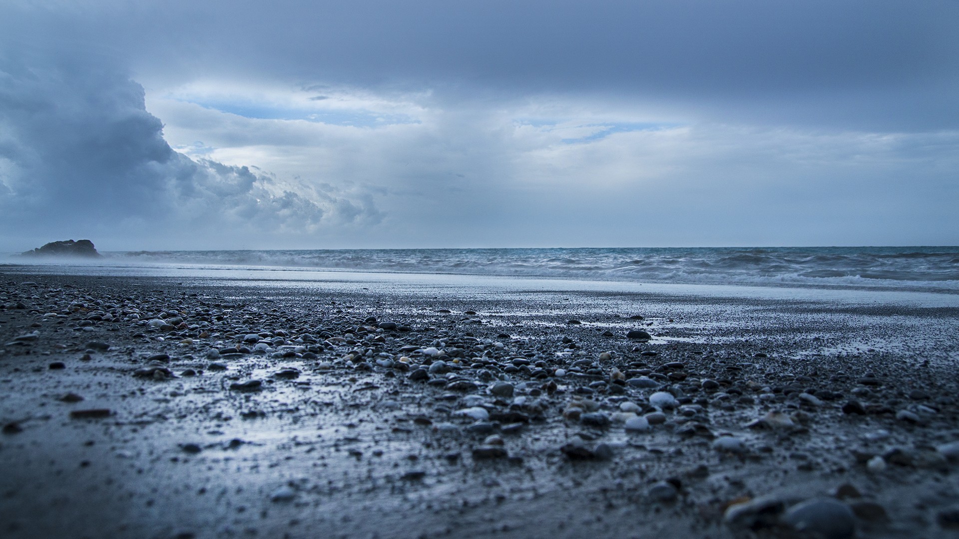
<svg viewBox="0 0 959 539">
<path fill-rule="evenodd" d="M 0 251 L 959 245 L 959 2 L 4 0 Z"/>
</svg>

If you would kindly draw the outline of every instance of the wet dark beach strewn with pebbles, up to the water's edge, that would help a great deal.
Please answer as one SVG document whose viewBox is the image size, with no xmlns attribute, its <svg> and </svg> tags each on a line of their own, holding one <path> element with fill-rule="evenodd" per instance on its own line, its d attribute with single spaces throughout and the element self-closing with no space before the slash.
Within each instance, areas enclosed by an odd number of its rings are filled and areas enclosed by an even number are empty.
<svg viewBox="0 0 959 539">
<path fill-rule="evenodd" d="M 4 537 L 959 533 L 959 294 L 118 272 L 0 267 Z"/>
</svg>

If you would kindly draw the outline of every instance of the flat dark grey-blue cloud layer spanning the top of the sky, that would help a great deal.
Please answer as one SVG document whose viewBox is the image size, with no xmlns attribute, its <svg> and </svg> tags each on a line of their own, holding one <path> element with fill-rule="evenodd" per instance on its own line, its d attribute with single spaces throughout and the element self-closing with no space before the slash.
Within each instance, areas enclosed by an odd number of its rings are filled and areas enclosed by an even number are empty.
<svg viewBox="0 0 959 539">
<path fill-rule="evenodd" d="M 95 43 L 183 80 L 425 84 L 450 99 L 580 92 L 722 122 L 959 126 L 959 3 L 946 0 L 16 5 L 5 30 L 18 42 Z"/>
</svg>

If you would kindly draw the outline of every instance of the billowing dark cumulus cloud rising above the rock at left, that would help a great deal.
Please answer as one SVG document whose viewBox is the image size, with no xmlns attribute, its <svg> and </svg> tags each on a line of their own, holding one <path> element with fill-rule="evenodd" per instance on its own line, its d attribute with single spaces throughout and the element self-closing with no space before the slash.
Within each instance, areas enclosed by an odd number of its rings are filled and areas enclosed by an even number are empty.
<svg viewBox="0 0 959 539">
<path fill-rule="evenodd" d="M 89 59 L 0 63 L 0 132 L 0 226 L 30 229 L 33 243 L 182 242 L 186 229 L 211 242 L 225 231 L 302 240 L 327 223 L 382 217 L 369 197 L 332 186 L 298 193 L 269 174 L 173 151 L 140 84 Z"/>
</svg>

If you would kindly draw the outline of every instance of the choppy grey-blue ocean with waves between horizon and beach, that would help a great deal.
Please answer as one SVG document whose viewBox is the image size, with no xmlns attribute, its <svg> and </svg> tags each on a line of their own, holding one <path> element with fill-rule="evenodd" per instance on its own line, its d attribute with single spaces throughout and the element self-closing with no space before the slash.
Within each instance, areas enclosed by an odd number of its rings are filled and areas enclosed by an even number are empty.
<svg viewBox="0 0 959 539">
<path fill-rule="evenodd" d="M 959 293 L 959 247 L 589 247 L 105 252 L 127 269 L 284 269 Z M 35 264 L 9 257 L 8 262 Z"/>
</svg>

